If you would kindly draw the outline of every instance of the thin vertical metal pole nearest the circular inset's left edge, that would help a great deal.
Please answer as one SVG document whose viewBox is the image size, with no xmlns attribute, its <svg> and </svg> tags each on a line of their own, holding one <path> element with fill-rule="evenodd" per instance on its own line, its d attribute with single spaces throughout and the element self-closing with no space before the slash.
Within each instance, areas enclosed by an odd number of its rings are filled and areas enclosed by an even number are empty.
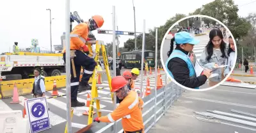
<svg viewBox="0 0 256 133">
<path fill-rule="evenodd" d="M 156 90 L 156 83 L 157 83 L 157 29 L 156 29 L 156 54 L 155 54 L 155 104 L 154 104 L 154 124 L 156 124 L 156 98 L 157 98 L 157 90 Z"/>
</svg>

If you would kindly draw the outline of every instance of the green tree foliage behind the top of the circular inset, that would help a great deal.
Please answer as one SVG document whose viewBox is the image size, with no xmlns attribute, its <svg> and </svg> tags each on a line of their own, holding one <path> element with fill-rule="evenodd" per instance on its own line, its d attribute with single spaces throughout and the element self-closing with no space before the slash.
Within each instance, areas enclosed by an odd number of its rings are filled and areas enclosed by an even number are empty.
<svg viewBox="0 0 256 133">
<path fill-rule="evenodd" d="M 223 24 L 225 24 L 228 29 L 232 32 L 234 38 L 248 38 L 254 36 L 252 39 L 254 42 L 255 40 L 255 24 L 256 24 L 256 15 L 251 13 L 247 18 L 239 17 L 237 14 L 238 7 L 234 4 L 233 0 L 215 0 L 211 3 L 207 3 L 202 7 L 196 9 L 189 15 L 207 15 L 209 17 L 216 18 L 220 20 Z M 186 17 L 184 14 L 177 13 L 175 16 L 171 17 L 166 21 L 164 25 L 157 27 L 158 34 L 157 34 L 157 49 L 160 50 L 161 43 L 163 41 L 163 37 L 170 29 L 170 27 L 175 24 L 181 18 Z M 206 24 L 215 24 L 215 21 L 211 19 L 204 18 L 203 19 Z M 193 18 L 189 19 L 189 25 L 193 24 Z M 179 23 L 180 26 L 187 26 L 188 20 L 184 20 Z M 253 29 L 253 30 L 252 30 Z M 248 31 L 251 31 L 249 33 Z M 252 34 L 253 33 L 253 34 Z M 136 42 L 138 49 L 141 49 L 142 45 L 142 34 L 137 36 Z M 252 41 L 251 41 L 252 42 Z M 250 43 L 253 44 L 253 43 Z M 156 27 L 150 29 L 148 34 L 145 34 L 145 50 L 155 50 L 156 45 Z M 124 48 L 128 51 L 134 50 L 134 39 L 128 39 L 125 42 Z M 158 51 L 159 53 L 159 51 Z"/>
</svg>

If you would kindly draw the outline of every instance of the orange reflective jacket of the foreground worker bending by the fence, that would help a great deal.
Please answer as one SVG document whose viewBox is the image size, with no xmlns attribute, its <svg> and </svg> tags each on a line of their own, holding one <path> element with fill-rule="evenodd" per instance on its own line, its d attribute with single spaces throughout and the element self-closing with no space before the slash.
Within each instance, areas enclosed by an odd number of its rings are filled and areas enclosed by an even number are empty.
<svg viewBox="0 0 256 133">
<path fill-rule="evenodd" d="M 107 116 L 99 118 L 100 122 L 115 122 L 122 118 L 122 125 L 125 131 L 136 131 L 144 129 L 141 106 L 144 102 L 136 92 L 130 91 L 120 105 Z"/>
</svg>

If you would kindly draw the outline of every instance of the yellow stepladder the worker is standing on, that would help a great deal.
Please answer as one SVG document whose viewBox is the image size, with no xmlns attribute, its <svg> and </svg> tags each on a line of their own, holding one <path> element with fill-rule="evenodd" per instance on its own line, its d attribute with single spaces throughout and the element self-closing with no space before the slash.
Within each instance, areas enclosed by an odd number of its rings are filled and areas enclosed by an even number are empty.
<svg viewBox="0 0 256 133">
<path fill-rule="evenodd" d="M 92 52 L 92 44 L 95 43 L 95 52 Z M 102 57 L 104 61 L 104 66 L 106 69 L 106 74 L 108 76 L 108 86 L 111 92 L 111 75 L 109 71 L 109 64 L 108 64 L 108 57 L 106 53 L 106 48 L 103 41 L 88 41 L 88 48 L 90 50 L 90 53 L 95 54 L 95 62 L 97 62 L 97 66 L 99 64 L 99 53 L 100 53 L 100 47 L 102 50 Z M 89 108 L 89 114 L 88 114 L 88 125 L 90 125 L 93 122 L 93 106 L 96 102 L 96 108 L 97 108 L 97 115 L 100 117 L 103 110 L 100 109 L 100 97 L 98 95 L 98 87 L 97 87 L 97 74 L 105 72 L 105 71 L 98 71 L 98 67 L 95 67 L 93 74 L 92 74 L 92 90 L 91 90 L 91 101 L 90 101 L 90 108 Z M 111 93 L 111 98 L 113 99 L 113 93 Z"/>
</svg>

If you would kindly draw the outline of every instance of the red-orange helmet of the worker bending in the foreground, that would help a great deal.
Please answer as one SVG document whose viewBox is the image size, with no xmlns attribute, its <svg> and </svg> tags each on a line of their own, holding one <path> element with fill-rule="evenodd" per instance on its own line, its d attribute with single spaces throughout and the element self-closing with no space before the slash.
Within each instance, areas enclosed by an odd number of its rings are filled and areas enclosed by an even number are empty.
<svg viewBox="0 0 256 133">
<path fill-rule="evenodd" d="M 116 90 L 119 90 L 125 85 L 127 85 L 127 81 L 123 76 L 115 76 L 114 78 L 112 78 L 112 81 L 111 81 L 111 87 L 112 87 L 111 92 L 116 92 Z"/>
</svg>

